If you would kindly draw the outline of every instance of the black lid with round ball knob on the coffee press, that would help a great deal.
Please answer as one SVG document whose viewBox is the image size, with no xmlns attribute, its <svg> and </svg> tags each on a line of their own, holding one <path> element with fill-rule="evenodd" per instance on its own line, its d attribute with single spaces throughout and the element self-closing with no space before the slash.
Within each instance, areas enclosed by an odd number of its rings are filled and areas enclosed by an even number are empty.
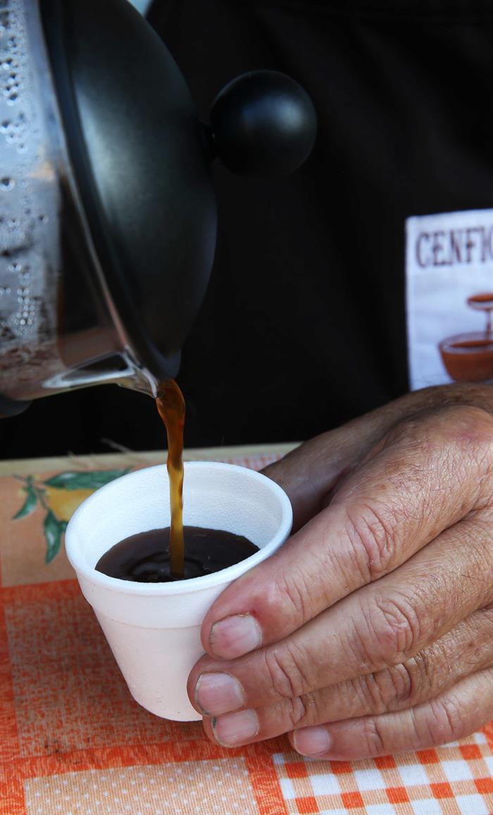
<svg viewBox="0 0 493 815">
<path fill-rule="evenodd" d="M 174 376 L 212 269 L 219 155 L 238 174 L 295 170 L 316 135 L 281 73 L 238 77 L 197 119 L 166 46 L 126 0 L 41 0 L 76 183 L 105 283 L 138 361 Z"/>
</svg>

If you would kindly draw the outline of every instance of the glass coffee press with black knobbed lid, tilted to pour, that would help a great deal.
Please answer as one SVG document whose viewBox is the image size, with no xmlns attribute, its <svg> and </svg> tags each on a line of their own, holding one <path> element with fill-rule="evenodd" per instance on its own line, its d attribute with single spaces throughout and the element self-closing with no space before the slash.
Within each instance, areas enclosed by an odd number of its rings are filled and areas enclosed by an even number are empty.
<svg viewBox="0 0 493 815">
<path fill-rule="evenodd" d="M 127 0 L 0 0 L 0 414 L 174 377 L 212 268 L 212 161 L 287 174 L 315 134 L 305 91 L 267 71 L 203 125 Z"/>
</svg>

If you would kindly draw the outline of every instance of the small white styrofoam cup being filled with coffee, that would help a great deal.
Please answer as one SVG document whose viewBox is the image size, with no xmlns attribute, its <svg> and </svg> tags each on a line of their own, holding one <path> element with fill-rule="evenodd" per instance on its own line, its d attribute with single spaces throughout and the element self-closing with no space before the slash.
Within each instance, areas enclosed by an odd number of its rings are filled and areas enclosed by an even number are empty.
<svg viewBox="0 0 493 815">
<path fill-rule="evenodd" d="M 230 583 L 272 555 L 290 534 L 286 493 L 260 473 L 215 461 L 185 464 L 184 523 L 245 535 L 260 551 L 212 575 L 174 583 L 133 583 L 94 566 L 120 540 L 169 526 L 164 465 L 140 469 L 101 487 L 76 510 L 65 548 L 84 597 L 93 606 L 130 693 L 146 710 L 199 720 L 186 681 L 203 654 L 200 627 Z"/>
</svg>

